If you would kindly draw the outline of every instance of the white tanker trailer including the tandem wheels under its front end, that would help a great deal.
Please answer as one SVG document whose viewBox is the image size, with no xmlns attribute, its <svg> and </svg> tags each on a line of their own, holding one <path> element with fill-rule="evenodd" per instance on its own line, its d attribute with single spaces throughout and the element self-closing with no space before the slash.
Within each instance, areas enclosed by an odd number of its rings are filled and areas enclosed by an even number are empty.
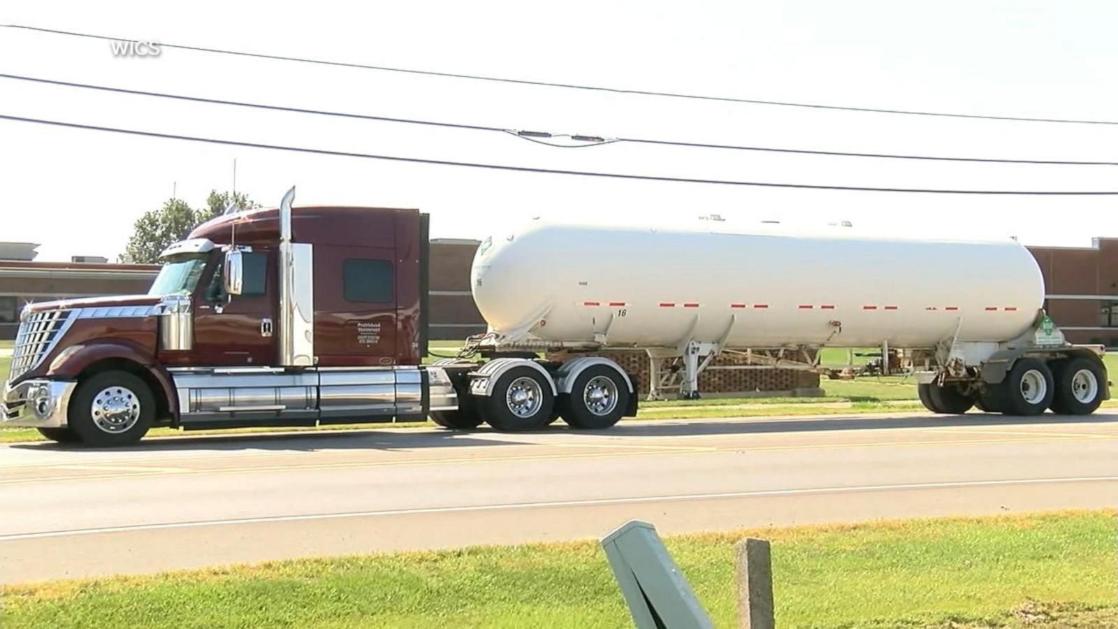
<svg viewBox="0 0 1118 629">
<path fill-rule="evenodd" d="M 1109 396 L 1101 348 L 1064 340 L 1042 310 L 1040 269 L 1015 241 L 704 226 L 533 220 L 485 240 L 471 282 L 490 332 L 459 360 L 492 359 L 471 368 L 462 398 L 504 395 L 510 413 L 496 428 L 539 428 L 559 415 L 605 428 L 636 411 L 624 369 L 605 357 L 546 362 L 537 351 L 644 349 L 654 388 L 674 362 L 680 395 L 698 397 L 699 374 L 721 353 L 784 366 L 774 350 L 793 351 L 807 357 L 797 367 L 817 368 L 823 347 L 904 349 L 920 400 L 937 413 L 1086 414 Z"/>
</svg>

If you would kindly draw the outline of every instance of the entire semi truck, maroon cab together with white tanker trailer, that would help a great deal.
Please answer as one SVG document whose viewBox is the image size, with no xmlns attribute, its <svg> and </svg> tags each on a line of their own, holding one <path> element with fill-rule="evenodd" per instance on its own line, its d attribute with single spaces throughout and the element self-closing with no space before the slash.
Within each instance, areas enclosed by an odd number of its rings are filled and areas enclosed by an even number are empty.
<svg viewBox="0 0 1118 629">
<path fill-rule="evenodd" d="M 815 368 L 819 348 L 881 345 L 910 350 L 937 413 L 1090 413 L 1109 395 L 1100 348 L 1064 340 L 1015 242 L 709 222 L 486 238 L 471 284 L 489 331 L 424 365 L 428 216 L 293 203 L 202 224 L 148 294 L 25 308 L 0 423 L 95 447 L 159 425 L 606 429 L 638 387 L 605 349 L 644 351 L 653 395 L 697 397 L 723 353 Z"/>
</svg>

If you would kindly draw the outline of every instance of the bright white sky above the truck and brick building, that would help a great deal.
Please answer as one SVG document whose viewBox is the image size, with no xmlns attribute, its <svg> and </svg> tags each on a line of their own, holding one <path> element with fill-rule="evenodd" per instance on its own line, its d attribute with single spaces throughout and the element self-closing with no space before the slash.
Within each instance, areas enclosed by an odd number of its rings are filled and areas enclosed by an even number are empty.
<svg viewBox="0 0 1118 629">
<path fill-rule="evenodd" d="M 1118 3 L 7 2 L 0 24 L 373 65 L 745 98 L 1118 120 Z M 504 85 L 0 29 L 0 72 L 139 90 L 556 133 L 861 152 L 1118 161 L 1118 126 L 935 119 Z M 260 112 L 0 79 L 0 113 L 331 150 L 875 187 L 1118 190 L 1118 167 L 945 163 L 614 144 Z M 419 207 L 435 237 L 531 216 L 851 220 L 906 234 L 1088 245 L 1116 197 L 803 191 L 518 175 L 202 145 L 0 121 L 0 241 L 39 260 L 115 257 L 172 189 L 275 205 Z"/>
</svg>

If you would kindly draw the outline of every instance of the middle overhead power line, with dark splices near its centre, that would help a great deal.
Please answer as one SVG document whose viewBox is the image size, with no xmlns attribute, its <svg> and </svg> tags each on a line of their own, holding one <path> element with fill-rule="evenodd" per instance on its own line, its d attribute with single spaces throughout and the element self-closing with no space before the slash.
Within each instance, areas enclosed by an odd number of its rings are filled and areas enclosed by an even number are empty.
<svg viewBox="0 0 1118 629">
<path fill-rule="evenodd" d="M 579 134 L 553 134 L 547 132 L 536 132 L 536 131 L 515 131 L 513 129 L 502 128 L 502 126 L 485 126 L 479 124 L 464 124 L 456 122 L 436 122 L 429 120 L 416 120 L 416 119 L 405 119 L 405 118 L 392 118 L 383 115 L 371 115 L 371 114 L 359 114 L 350 112 L 339 112 L 339 111 L 326 111 L 326 110 L 314 110 L 306 107 L 292 107 L 285 105 L 273 105 L 265 103 L 248 103 L 244 101 L 231 101 L 227 98 L 207 98 L 202 96 L 189 96 L 184 94 L 169 94 L 165 92 L 151 92 L 146 90 L 129 90 L 124 87 L 113 87 L 107 85 L 93 85 L 88 83 L 75 83 L 70 81 L 57 81 L 53 78 L 40 78 L 34 76 L 23 76 L 18 74 L 4 74 L 0 73 L 0 78 L 10 78 L 15 81 L 27 81 L 31 83 L 41 83 L 47 85 L 57 85 L 63 87 L 76 87 L 82 90 L 96 90 L 101 92 L 129 94 L 135 96 L 151 96 L 157 98 L 168 98 L 176 101 L 186 101 L 193 103 L 205 103 L 205 104 L 216 104 L 216 105 L 230 105 L 238 107 L 250 107 L 258 110 L 271 110 L 280 112 L 300 113 L 300 114 L 312 114 L 312 115 L 323 115 L 323 116 L 335 116 L 356 120 L 369 120 L 377 122 L 396 122 L 405 124 L 420 124 L 430 126 L 443 126 L 451 129 L 464 129 L 470 131 L 491 131 L 500 133 L 509 133 L 517 135 L 522 140 L 530 140 L 532 142 L 538 142 L 549 147 L 559 148 L 582 148 L 582 147 L 597 147 L 603 144 L 612 144 L 616 142 L 628 142 L 638 144 L 657 144 L 667 147 L 686 147 L 686 148 L 699 148 L 699 149 L 720 149 L 720 150 L 739 150 L 739 151 L 760 151 L 760 152 L 776 152 L 776 153 L 794 153 L 794 154 L 809 154 L 809 156 L 825 156 L 825 157 L 854 157 L 854 158 L 880 158 L 880 159 L 908 159 L 908 160 L 930 160 L 930 161 L 961 161 L 961 162 L 984 162 L 984 163 L 1034 163 L 1034 165 L 1055 165 L 1055 166 L 1118 166 L 1118 161 L 1089 161 L 1089 160 L 1053 160 L 1053 159 L 998 159 L 998 158 L 967 158 L 967 157 L 949 157 L 949 156 L 916 156 L 916 154 L 900 154 L 900 153 L 865 153 L 855 151 L 825 151 L 825 150 L 809 150 L 809 149 L 788 149 L 778 147 L 748 147 L 739 144 L 720 144 L 710 142 L 685 142 L 676 140 L 656 140 L 648 138 L 601 138 L 591 135 L 579 135 Z M 576 141 L 589 142 L 585 144 L 556 144 L 552 142 L 546 142 L 540 138 L 571 138 Z"/>
</svg>

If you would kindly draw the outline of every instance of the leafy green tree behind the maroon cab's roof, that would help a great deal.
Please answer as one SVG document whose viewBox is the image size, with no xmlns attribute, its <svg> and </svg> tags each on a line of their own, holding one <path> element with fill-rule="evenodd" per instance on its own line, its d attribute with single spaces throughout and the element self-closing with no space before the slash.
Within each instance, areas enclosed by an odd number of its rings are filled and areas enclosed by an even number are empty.
<svg viewBox="0 0 1118 629">
<path fill-rule="evenodd" d="M 218 193 L 210 190 L 206 207 L 193 209 L 182 199 L 167 199 L 163 207 L 145 212 L 135 222 L 135 232 L 129 238 L 120 262 L 134 264 L 154 264 L 159 254 L 171 243 L 184 238 L 195 227 L 220 216 L 229 205 L 238 210 L 260 207 L 260 204 L 249 199 L 244 193 Z"/>
</svg>

